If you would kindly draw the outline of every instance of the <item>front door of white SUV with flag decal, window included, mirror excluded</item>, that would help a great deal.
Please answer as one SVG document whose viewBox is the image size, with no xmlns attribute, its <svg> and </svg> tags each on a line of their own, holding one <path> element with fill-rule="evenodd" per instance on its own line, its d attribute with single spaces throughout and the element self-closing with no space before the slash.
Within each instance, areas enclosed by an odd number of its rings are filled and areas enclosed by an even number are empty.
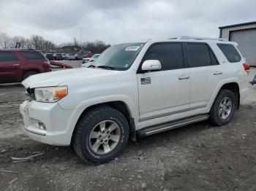
<svg viewBox="0 0 256 191">
<path fill-rule="evenodd" d="M 181 43 L 157 43 L 148 48 L 141 62 L 158 60 L 159 71 L 138 70 L 140 121 L 189 109 L 190 79 Z"/>
</svg>

